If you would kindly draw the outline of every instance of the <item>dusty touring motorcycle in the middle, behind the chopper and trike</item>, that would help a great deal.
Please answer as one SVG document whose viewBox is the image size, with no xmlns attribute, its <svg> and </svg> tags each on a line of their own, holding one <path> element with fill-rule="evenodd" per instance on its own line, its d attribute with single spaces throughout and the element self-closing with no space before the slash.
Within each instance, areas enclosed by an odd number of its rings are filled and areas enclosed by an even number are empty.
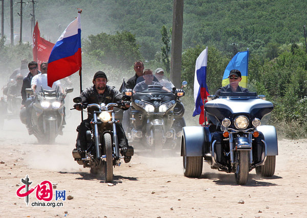
<svg viewBox="0 0 307 218">
<path fill-rule="evenodd" d="M 183 87 L 186 86 L 187 82 L 184 81 Z M 180 144 L 182 127 L 185 126 L 184 105 L 180 100 L 184 94 L 183 89 L 173 88 L 167 92 L 156 85 L 134 93 L 128 139 L 157 154 L 163 149 L 176 149 L 177 143 Z"/>
</svg>

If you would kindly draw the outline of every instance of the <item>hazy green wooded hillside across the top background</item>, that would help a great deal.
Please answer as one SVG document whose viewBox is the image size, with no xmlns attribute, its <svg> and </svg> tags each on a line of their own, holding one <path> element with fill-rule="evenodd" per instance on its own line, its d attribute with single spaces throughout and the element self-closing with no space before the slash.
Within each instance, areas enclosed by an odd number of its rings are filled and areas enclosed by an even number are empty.
<svg viewBox="0 0 307 218">
<path fill-rule="evenodd" d="M 76 16 L 76 9 L 81 8 L 83 38 L 90 34 L 126 30 L 135 34 L 143 57 L 151 60 L 162 46 L 161 27 L 171 28 L 172 4 L 165 0 L 41 0 L 35 4 L 35 18 L 41 34 L 54 42 Z M 19 5 L 14 5 L 16 34 L 20 25 Z M 196 44 L 214 44 L 219 50 L 232 54 L 232 43 L 236 43 L 239 51 L 249 47 L 251 53 L 261 54 L 268 43 L 298 42 L 303 37 L 306 9 L 303 0 L 185 0 L 183 49 Z M 26 4 L 24 37 L 30 35 L 30 13 L 32 5 Z M 9 1 L 6 1 L 7 38 L 10 38 L 9 14 Z"/>
</svg>

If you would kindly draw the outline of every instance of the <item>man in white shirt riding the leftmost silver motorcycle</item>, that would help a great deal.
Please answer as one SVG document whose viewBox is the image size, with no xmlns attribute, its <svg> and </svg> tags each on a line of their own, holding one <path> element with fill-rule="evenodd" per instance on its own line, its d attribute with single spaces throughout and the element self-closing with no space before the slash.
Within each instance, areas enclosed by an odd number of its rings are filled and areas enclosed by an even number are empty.
<svg viewBox="0 0 307 218">
<path fill-rule="evenodd" d="M 38 74 L 34 76 L 31 80 L 31 88 L 34 90 L 34 92 L 40 92 L 41 88 L 44 90 L 55 90 L 57 86 L 60 86 L 60 81 L 55 81 L 52 85 L 52 87 L 48 86 L 48 81 L 47 81 L 47 69 L 48 69 L 48 63 L 47 62 L 42 62 L 40 64 L 40 71 L 41 74 Z M 61 87 L 60 91 L 61 91 Z"/>
</svg>

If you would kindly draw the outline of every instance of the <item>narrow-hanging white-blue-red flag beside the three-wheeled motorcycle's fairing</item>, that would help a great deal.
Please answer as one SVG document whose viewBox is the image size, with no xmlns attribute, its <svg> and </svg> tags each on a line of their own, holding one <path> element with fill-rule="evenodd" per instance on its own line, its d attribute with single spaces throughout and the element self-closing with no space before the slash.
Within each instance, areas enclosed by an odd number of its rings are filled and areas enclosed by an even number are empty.
<svg viewBox="0 0 307 218">
<path fill-rule="evenodd" d="M 208 60 L 208 47 L 196 59 L 195 76 L 194 76 L 194 101 L 195 109 L 193 116 L 200 114 L 200 124 L 205 123 L 204 103 L 207 101 L 209 95 L 207 87 L 207 60 Z M 205 102 L 204 102 L 205 101 Z"/>
</svg>

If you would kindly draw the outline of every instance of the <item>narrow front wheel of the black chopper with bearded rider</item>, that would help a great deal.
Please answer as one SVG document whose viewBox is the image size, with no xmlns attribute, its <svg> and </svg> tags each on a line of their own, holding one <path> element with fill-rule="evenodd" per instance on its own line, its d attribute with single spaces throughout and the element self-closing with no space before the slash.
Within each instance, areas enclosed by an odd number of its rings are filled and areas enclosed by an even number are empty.
<svg viewBox="0 0 307 218">
<path fill-rule="evenodd" d="M 105 181 L 113 181 L 113 151 L 112 151 L 112 139 L 111 135 L 106 133 L 103 135 L 104 151 L 106 156 L 105 164 Z"/>
</svg>

